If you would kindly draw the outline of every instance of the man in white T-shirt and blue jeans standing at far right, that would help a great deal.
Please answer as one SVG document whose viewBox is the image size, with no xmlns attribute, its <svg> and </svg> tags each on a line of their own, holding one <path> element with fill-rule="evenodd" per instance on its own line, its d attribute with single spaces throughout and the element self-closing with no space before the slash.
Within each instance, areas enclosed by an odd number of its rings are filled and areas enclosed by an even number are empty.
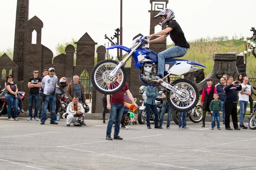
<svg viewBox="0 0 256 170">
<path fill-rule="evenodd" d="M 246 126 L 244 126 L 244 115 L 246 113 L 246 109 L 248 106 L 248 102 L 249 102 L 249 96 L 251 95 L 251 86 L 247 85 L 249 79 L 248 77 L 244 77 L 243 78 L 243 84 L 241 84 L 242 86 L 242 90 L 239 92 L 239 105 L 240 105 L 240 125 L 239 128 L 240 129 L 247 129 Z"/>
</svg>

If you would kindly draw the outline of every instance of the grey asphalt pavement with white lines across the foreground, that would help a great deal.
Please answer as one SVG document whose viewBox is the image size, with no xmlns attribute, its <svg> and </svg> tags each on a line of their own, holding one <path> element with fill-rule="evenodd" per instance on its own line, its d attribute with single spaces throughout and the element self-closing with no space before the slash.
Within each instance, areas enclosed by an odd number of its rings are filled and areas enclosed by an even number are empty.
<svg viewBox="0 0 256 170">
<path fill-rule="evenodd" d="M 86 120 L 70 127 L 40 121 L 0 119 L 1 170 L 248 170 L 255 168 L 254 130 L 211 130 L 187 122 L 189 129 L 120 128 L 123 140 L 105 140 L 107 124 Z M 233 125 L 231 125 L 233 127 Z M 112 128 L 112 137 L 113 137 Z"/>
</svg>

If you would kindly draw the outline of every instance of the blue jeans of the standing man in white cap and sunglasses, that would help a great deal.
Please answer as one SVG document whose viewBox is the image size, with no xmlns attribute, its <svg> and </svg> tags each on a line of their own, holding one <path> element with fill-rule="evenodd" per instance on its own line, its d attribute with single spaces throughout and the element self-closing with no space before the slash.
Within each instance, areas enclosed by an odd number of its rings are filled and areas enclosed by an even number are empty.
<svg viewBox="0 0 256 170">
<path fill-rule="evenodd" d="M 51 122 L 55 122 L 55 108 L 56 108 L 56 97 L 54 95 L 46 96 L 44 101 L 42 102 L 42 115 L 41 115 L 41 122 L 46 121 L 46 113 L 47 107 L 50 103 L 50 111 L 51 111 Z"/>
</svg>

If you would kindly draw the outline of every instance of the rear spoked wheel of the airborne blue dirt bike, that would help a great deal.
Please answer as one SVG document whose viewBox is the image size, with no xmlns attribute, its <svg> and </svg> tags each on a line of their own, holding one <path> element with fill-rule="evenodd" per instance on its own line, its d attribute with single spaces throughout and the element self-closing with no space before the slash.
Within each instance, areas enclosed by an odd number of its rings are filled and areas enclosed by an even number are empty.
<svg viewBox="0 0 256 170">
<path fill-rule="evenodd" d="M 166 92 L 167 101 L 169 105 L 177 111 L 186 112 L 195 108 L 199 100 L 199 92 L 195 83 L 189 79 L 177 79 L 172 82 L 176 89 L 182 92 L 181 96 L 172 91 Z"/>
</svg>

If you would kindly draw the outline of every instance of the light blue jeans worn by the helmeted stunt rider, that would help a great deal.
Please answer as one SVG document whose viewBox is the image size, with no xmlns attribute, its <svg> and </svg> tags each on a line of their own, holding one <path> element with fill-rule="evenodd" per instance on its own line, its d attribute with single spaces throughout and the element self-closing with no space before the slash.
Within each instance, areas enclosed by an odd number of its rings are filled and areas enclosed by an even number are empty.
<svg viewBox="0 0 256 170">
<path fill-rule="evenodd" d="M 158 73 L 157 75 L 163 77 L 164 70 L 165 70 L 165 59 L 173 58 L 173 57 L 182 57 L 188 51 L 187 48 L 174 46 L 171 48 L 166 49 L 158 54 Z"/>
</svg>

